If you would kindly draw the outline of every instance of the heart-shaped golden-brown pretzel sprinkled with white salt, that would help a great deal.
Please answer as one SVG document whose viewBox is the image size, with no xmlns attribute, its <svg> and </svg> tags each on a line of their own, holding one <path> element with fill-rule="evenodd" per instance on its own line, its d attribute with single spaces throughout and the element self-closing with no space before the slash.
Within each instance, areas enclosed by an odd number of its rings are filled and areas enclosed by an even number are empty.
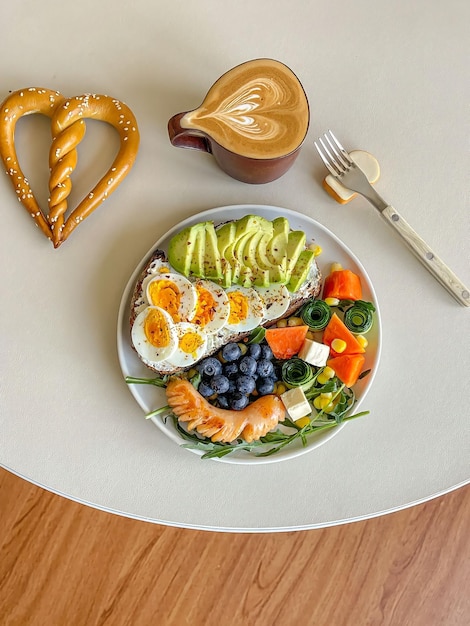
<svg viewBox="0 0 470 626">
<path fill-rule="evenodd" d="M 14 145 L 17 120 L 22 115 L 43 113 L 51 118 L 52 145 L 49 152 L 49 214 L 41 210 L 18 163 Z M 134 164 L 139 131 L 134 114 L 123 102 L 105 95 L 85 94 L 65 99 L 48 89 L 30 87 L 12 93 L 1 105 L 0 156 L 15 187 L 18 199 L 37 226 L 60 246 L 78 224 L 88 217 L 122 182 Z M 77 165 L 76 146 L 85 134 L 85 119 L 108 122 L 118 131 L 119 152 L 107 173 L 65 219 L 70 176 Z"/>
</svg>

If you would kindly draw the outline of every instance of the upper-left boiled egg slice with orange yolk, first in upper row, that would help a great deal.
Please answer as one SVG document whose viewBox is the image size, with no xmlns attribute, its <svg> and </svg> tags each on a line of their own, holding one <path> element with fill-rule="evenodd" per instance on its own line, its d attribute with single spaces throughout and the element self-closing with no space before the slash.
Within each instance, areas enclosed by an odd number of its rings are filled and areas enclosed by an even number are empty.
<svg viewBox="0 0 470 626">
<path fill-rule="evenodd" d="M 192 283 L 179 274 L 158 274 L 149 280 L 146 297 L 151 306 L 164 309 L 175 324 L 186 322 L 194 316 L 196 291 Z"/>
</svg>

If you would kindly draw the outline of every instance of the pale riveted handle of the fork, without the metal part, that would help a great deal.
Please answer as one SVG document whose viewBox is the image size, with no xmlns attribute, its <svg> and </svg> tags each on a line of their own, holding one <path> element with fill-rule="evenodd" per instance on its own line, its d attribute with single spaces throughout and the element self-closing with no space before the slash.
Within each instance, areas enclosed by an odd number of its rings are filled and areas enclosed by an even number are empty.
<svg viewBox="0 0 470 626">
<path fill-rule="evenodd" d="M 390 205 L 381 215 L 384 220 L 400 235 L 413 254 L 445 289 L 463 306 L 470 306 L 470 290 L 465 287 L 454 272 L 435 254 L 428 244 L 421 239 L 408 222 Z"/>
</svg>

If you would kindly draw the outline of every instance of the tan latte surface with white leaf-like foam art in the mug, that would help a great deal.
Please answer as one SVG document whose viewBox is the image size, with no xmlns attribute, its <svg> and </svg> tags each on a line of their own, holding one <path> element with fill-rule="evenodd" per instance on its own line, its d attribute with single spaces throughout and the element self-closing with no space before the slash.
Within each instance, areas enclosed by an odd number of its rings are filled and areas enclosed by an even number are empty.
<svg viewBox="0 0 470 626">
<path fill-rule="evenodd" d="M 224 74 L 181 126 L 237 154 L 265 159 L 295 150 L 308 122 L 308 102 L 297 77 L 278 61 L 260 59 Z"/>
</svg>

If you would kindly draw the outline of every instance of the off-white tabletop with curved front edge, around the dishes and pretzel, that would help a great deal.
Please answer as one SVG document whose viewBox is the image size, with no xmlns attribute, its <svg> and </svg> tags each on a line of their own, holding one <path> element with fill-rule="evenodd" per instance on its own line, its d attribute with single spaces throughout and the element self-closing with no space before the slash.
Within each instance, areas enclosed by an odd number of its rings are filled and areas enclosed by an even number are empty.
<svg viewBox="0 0 470 626">
<path fill-rule="evenodd" d="M 132 4 L 43 0 L 2 9 L 0 100 L 48 87 L 106 93 L 134 111 L 141 147 L 129 177 L 58 250 L 0 178 L 0 463 L 91 506 L 162 524 L 297 530 L 379 515 L 469 481 L 470 310 L 459 306 L 364 200 L 321 188 L 313 140 L 328 128 L 374 154 L 379 192 L 470 284 L 470 81 L 466 0 L 241 0 Z M 248 59 L 299 76 L 311 107 L 293 169 L 261 186 L 209 155 L 173 148 L 166 124 Z M 89 122 L 70 205 L 107 169 L 114 131 Z M 47 199 L 49 123 L 18 124 L 17 148 Z M 212 207 L 300 211 L 358 256 L 383 321 L 370 415 L 283 463 L 201 461 L 167 439 L 123 381 L 117 312 L 154 241 Z"/>
</svg>

